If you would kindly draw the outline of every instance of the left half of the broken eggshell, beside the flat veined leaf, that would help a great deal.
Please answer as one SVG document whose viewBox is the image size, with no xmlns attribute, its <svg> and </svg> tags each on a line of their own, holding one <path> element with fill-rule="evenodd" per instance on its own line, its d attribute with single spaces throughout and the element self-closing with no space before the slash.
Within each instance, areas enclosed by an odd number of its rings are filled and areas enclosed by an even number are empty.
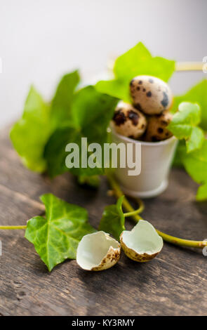
<svg viewBox="0 0 207 330">
<path fill-rule="evenodd" d="M 84 270 L 107 270 L 120 258 L 121 246 L 105 232 L 85 235 L 76 253 L 76 262 Z"/>
</svg>

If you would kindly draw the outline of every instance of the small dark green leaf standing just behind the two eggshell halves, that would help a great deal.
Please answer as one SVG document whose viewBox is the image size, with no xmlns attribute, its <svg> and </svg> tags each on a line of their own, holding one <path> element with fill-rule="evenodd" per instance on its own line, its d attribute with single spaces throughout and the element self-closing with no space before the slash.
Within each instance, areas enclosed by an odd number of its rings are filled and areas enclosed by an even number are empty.
<svg viewBox="0 0 207 330">
<path fill-rule="evenodd" d="M 125 230 L 122 203 L 124 196 L 121 196 L 116 204 L 106 206 L 102 214 L 98 230 L 102 230 L 119 240 L 121 232 Z"/>
</svg>

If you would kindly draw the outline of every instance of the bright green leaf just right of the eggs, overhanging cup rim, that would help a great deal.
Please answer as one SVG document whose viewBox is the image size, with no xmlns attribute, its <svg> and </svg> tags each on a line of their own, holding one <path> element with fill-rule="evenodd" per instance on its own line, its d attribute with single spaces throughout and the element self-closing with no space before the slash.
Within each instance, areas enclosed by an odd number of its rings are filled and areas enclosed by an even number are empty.
<svg viewBox="0 0 207 330">
<path fill-rule="evenodd" d="M 182 102 L 178 112 L 173 115 L 168 129 L 176 138 L 186 140 L 187 152 L 201 148 L 204 141 L 204 133 L 196 127 L 201 121 L 201 109 L 196 103 Z"/>
</svg>

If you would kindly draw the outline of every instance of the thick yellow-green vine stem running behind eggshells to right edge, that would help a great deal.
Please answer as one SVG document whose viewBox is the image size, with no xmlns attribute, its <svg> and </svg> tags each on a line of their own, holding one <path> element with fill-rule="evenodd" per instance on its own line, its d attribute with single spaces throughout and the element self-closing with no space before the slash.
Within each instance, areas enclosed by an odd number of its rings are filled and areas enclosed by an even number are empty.
<svg viewBox="0 0 207 330">
<path fill-rule="evenodd" d="M 116 197 L 119 198 L 119 197 L 123 196 L 123 192 L 121 191 L 119 184 L 116 183 L 116 180 L 114 180 L 114 178 L 110 175 L 107 175 L 107 178 L 109 180 L 110 185 L 112 186 L 112 189 L 114 190 Z M 140 199 L 138 199 L 138 202 L 140 204 Z M 143 202 L 142 202 L 142 204 L 143 204 Z M 135 222 L 138 223 L 138 221 L 140 219 L 143 219 L 140 216 L 140 214 L 138 214 L 135 211 L 135 209 L 133 209 L 133 206 L 131 206 L 130 202 L 128 202 L 128 199 L 126 199 L 126 197 L 124 197 L 124 199 L 123 199 L 123 207 L 124 207 L 124 209 L 126 209 L 126 211 L 128 211 L 128 213 L 125 213 L 125 214 L 131 213 L 131 216 L 135 220 Z M 142 209 L 143 209 L 143 206 L 142 206 Z M 160 230 L 156 230 L 156 232 L 159 234 L 159 236 L 161 236 L 163 238 L 164 241 L 171 243 L 171 244 L 175 244 L 175 245 L 179 245 L 179 246 L 194 247 L 194 248 L 198 248 L 198 249 L 203 249 L 204 246 L 207 246 L 206 241 L 192 241 L 191 239 L 181 239 L 179 237 L 174 237 L 174 236 L 165 234 L 164 232 L 161 232 Z"/>
</svg>

